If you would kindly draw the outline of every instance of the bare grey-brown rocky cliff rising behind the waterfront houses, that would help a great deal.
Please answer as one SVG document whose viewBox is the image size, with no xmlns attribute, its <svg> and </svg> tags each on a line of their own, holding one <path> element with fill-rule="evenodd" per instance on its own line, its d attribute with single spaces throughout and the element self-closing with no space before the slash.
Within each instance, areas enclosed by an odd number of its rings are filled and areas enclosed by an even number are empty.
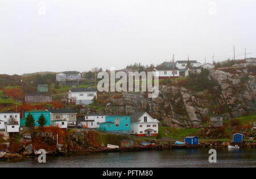
<svg viewBox="0 0 256 179">
<path fill-rule="evenodd" d="M 232 66 L 233 73 L 210 70 L 209 78 L 220 84 L 214 86 L 213 93 L 160 85 L 157 98 L 147 98 L 144 92 L 124 92 L 121 98 L 110 99 L 105 111 L 107 114 L 147 111 L 175 128 L 199 127 L 204 117 L 211 114 L 223 114 L 226 119 L 253 114 L 256 84 L 255 71 L 251 70 L 255 70 L 255 63 L 248 66 Z"/>
</svg>

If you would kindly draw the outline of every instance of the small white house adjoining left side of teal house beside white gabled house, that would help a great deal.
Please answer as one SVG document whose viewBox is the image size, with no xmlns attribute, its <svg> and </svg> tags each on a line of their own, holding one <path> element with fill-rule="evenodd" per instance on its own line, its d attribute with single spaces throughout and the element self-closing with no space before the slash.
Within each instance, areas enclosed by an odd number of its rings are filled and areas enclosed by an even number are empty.
<svg viewBox="0 0 256 179">
<path fill-rule="evenodd" d="M 93 114 L 93 115 L 85 115 L 84 121 L 81 124 L 86 128 L 98 128 L 100 127 L 100 123 L 106 122 L 106 115 L 104 114 Z"/>
</svg>

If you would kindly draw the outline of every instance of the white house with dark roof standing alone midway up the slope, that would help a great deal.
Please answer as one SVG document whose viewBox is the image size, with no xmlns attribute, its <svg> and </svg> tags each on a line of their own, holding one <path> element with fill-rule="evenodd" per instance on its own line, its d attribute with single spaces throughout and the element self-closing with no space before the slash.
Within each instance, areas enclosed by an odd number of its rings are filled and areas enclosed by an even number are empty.
<svg viewBox="0 0 256 179">
<path fill-rule="evenodd" d="M 97 90 L 93 88 L 73 88 L 68 93 L 68 98 L 76 105 L 89 105 L 94 97 L 97 98 Z"/>
</svg>

